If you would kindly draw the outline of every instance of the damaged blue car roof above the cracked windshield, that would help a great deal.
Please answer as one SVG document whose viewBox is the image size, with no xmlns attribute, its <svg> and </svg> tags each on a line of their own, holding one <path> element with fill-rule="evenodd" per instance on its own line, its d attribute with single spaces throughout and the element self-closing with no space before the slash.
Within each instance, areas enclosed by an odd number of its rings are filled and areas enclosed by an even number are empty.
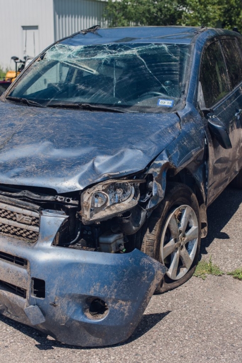
<svg viewBox="0 0 242 363">
<path fill-rule="evenodd" d="M 119 27 L 82 30 L 59 42 L 69 45 L 107 43 L 180 43 L 190 44 L 195 35 L 204 34 L 204 39 L 216 35 L 238 35 L 230 30 L 185 26 Z"/>
</svg>

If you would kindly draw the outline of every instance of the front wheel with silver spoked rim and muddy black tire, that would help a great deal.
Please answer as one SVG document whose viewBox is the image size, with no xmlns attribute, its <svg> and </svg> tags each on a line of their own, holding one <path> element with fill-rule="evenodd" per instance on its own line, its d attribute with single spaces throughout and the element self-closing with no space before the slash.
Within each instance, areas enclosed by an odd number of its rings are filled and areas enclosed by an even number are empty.
<svg viewBox="0 0 242 363">
<path fill-rule="evenodd" d="M 190 279 L 198 263 L 201 222 L 196 195 L 188 186 L 167 185 L 165 197 L 144 225 L 141 239 L 141 251 L 168 268 L 156 294 Z"/>
</svg>

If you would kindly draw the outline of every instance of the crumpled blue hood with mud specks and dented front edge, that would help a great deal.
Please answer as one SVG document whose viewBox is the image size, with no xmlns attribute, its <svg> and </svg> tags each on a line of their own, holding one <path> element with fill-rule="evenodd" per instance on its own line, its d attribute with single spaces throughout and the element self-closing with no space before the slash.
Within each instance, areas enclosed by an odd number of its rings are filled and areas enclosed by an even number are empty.
<svg viewBox="0 0 242 363">
<path fill-rule="evenodd" d="M 81 190 L 143 170 L 180 133 L 175 114 L 41 109 L 0 102 L 0 183 Z"/>
</svg>

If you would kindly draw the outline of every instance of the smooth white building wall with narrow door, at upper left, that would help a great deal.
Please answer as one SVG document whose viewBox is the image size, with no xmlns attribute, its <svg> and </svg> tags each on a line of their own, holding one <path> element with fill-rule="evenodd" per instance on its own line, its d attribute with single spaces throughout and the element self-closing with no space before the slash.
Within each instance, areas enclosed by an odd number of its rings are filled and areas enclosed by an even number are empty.
<svg viewBox="0 0 242 363">
<path fill-rule="evenodd" d="M 30 38 L 33 39 L 33 30 L 35 30 L 35 46 L 30 44 Z M 36 54 L 54 41 L 52 0 L 0 0 L 0 65 L 2 67 L 14 69 L 15 64 L 11 61 L 11 57 L 24 56 L 26 31 L 29 31 L 27 43 L 32 46 L 32 49 L 35 48 Z M 33 53 L 32 49 L 31 53 Z"/>
</svg>

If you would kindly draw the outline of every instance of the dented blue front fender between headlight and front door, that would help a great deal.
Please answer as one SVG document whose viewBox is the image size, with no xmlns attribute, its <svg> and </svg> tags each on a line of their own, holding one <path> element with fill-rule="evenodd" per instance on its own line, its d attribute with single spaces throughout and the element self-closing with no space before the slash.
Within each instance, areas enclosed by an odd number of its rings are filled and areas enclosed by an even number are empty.
<svg viewBox="0 0 242 363">
<path fill-rule="evenodd" d="M 149 214 L 164 198 L 168 169 L 172 169 L 173 175 L 176 175 L 186 168 L 196 181 L 204 203 L 206 202 L 203 121 L 196 108 L 189 103 L 177 115 L 181 120 L 180 134 L 158 155 L 147 170 L 147 174 L 153 176 L 152 197 L 147 206 Z"/>
</svg>

